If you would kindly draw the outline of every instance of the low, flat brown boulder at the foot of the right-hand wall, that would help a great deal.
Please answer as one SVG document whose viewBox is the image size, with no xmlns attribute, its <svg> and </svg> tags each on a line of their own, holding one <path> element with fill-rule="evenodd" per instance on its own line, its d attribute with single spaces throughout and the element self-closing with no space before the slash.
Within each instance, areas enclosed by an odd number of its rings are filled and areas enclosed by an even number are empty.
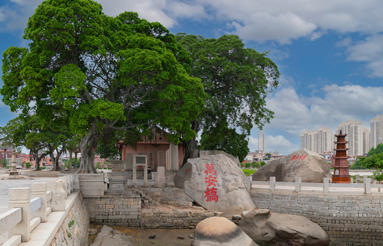
<svg viewBox="0 0 383 246">
<path fill-rule="evenodd" d="M 268 209 L 246 213 L 239 221 L 239 227 L 259 244 L 321 246 L 330 243 L 321 226 L 306 217 L 271 213 Z"/>
</svg>

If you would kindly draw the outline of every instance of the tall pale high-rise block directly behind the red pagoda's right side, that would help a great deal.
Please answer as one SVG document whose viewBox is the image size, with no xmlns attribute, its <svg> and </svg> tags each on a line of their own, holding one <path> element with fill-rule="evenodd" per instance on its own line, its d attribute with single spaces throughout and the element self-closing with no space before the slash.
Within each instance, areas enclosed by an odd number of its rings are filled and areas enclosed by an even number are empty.
<svg viewBox="0 0 383 246">
<path fill-rule="evenodd" d="M 369 130 L 363 126 L 362 122 L 359 120 L 347 120 L 347 122 L 342 122 L 336 127 L 336 134 L 339 134 L 341 130 L 343 134 L 347 134 L 346 141 L 348 141 L 348 143 L 346 146 L 349 149 L 347 150 L 348 156 L 366 153 L 366 150 L 369 149 Z"/>
</svg>

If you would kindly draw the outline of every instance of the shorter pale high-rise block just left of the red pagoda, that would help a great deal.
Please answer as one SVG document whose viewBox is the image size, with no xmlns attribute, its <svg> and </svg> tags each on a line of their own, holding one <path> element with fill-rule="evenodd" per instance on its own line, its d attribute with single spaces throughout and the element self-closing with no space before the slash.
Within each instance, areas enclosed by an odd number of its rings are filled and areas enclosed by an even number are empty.
<svg viewBox="0 0 383 246">
<path fill-rule="evenodd" d="M 301 148 L 306 148 L 318 154 L 332 151 L 334 135 L 328 127 L 320 127 L 317 131 L 306 130 L 301 134 Z"/>
</svg>

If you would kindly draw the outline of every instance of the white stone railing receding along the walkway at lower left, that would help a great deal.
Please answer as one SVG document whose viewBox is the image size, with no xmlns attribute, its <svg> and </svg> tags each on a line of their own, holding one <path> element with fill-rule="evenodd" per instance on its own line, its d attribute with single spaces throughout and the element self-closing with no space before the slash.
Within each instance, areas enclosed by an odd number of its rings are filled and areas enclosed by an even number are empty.
<svg viewBox="0 0 383 246">
<path fill-rule="evenodd" d="M 3 246 L 16 246 L 29 241 L 31 232 L 47 221 L 51 211 L 65 211 L 65 198 L 73 191 L 74 175 L 58 180 L 34 182 L 32 187 L 11 188 L 8 191 L 8 206 L 0 215 L 0 235 L 8 232 L 8 241 Z"/>
</svg>

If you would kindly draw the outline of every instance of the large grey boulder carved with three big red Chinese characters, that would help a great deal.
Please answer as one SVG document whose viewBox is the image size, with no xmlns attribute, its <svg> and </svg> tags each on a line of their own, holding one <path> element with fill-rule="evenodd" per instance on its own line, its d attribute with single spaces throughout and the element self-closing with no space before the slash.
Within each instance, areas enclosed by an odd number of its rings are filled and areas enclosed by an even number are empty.
<svg viewBox="0 0 383 246">
<path fill-rule="evenodd" d="M 245 174 L 223 154 L 188 159 L 174 184 L 206 210 L 232 215 L 256 208 L 246 189 Z"/>
</svg>

